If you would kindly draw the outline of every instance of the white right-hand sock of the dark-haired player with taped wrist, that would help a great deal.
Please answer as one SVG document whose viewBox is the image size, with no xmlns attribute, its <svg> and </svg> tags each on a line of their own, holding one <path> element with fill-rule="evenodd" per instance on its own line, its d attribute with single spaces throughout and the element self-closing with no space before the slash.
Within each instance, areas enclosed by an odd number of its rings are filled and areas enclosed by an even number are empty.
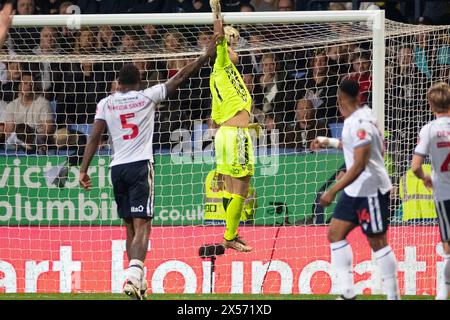
<svg viewBox="0 0 450 320">
<path fill-rule="evenodd" d="M 390 246 L 374 252 L 377 264 L 381 271 L 383 291 L 388 300 L 400 300 L 397 279 L 397 259 Z"/>
</svg>

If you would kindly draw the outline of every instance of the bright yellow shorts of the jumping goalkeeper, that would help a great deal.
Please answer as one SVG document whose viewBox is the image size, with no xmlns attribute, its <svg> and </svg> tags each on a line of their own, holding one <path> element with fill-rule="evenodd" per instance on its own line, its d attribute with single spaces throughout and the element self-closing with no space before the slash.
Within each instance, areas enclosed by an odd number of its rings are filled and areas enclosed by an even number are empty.
<svg viewBox="0 0 450 320">
<path fill-rule="evenodd" d="M 221 126 L 214 143 L 218 173 L 234 178 L 254 174 L 255 157 L 248 128 Z"/>
</svg>

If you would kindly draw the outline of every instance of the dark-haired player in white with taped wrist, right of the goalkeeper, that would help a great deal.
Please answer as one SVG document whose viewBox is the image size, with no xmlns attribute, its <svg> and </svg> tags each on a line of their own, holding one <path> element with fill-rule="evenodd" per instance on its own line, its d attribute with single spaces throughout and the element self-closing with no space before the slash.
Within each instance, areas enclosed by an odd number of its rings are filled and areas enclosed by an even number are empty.
<svg viewBox="0 0 450 320">
<path fill-rule="evenodd" d="M 384 142 L 377 121 L 367 105 L 360 106 L 358 82 L 344 80 L 339 85 L 338 105 L 344 116 L 342 141 L 318 137 L 312 150 L 334 147 L 344 150 L 346 173 L 320 198 L 329 206 L 343 190 L 328 230 L 331 265 L 341 285 L 341 299 L 356 297 L 353 280 L 353 252 L 347 235 L 358 225 L 373 250 L 389 300 L 400 299 L 397 259 L 387 243 L 391 181 L 384 168 Z"/>
</svg>

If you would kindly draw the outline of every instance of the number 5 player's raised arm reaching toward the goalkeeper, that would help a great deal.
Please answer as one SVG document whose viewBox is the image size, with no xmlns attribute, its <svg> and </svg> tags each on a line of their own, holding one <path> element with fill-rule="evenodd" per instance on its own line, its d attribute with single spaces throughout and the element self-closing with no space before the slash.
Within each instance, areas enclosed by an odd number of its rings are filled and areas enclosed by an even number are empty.
<svg viewBox="0 0 450 320">
<path fill-rule="evenodd" d="M 214 35 L 212 39 L 210 39 L 208 48 L 206 49 L 206 52 L 203 55 L 198 57 L 194 62 L 191 62 L 190 64 L 186 65 L 184 68 L 178 71 L 176 75 L 174 75 L 166 82 L 166 89 L 168 96 L 172 95 L 180 86 L 180 84 L 182 84 L 189 77 L 198 72 L 198 70 L 200 70 L 200 68 L 207 61 L 209 61 L 209 59 L 214 57 L 214 55 L 216 54 L 217 39 L 218 35 Z"/>
</svg>

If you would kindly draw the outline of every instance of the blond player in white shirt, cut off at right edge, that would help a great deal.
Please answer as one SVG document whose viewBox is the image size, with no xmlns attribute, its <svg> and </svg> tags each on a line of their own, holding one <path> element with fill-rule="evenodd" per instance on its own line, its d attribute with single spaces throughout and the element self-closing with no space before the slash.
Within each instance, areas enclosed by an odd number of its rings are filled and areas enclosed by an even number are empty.
<svg viewBox="0 0 450 320">
<path fill-rule="evenodd" d="M 420 130 L 412 170 L 426 187 L 433 188 L 445 253 L 444 274 L 436 299 L 446 300 L 450 294 L 450 86 L 444 82 L 433 85 L 428 91 L 428 103 L 436 119 Z M 431 157 L 431 177 L 422 170 L 427 156 Z"/>
</svg>

